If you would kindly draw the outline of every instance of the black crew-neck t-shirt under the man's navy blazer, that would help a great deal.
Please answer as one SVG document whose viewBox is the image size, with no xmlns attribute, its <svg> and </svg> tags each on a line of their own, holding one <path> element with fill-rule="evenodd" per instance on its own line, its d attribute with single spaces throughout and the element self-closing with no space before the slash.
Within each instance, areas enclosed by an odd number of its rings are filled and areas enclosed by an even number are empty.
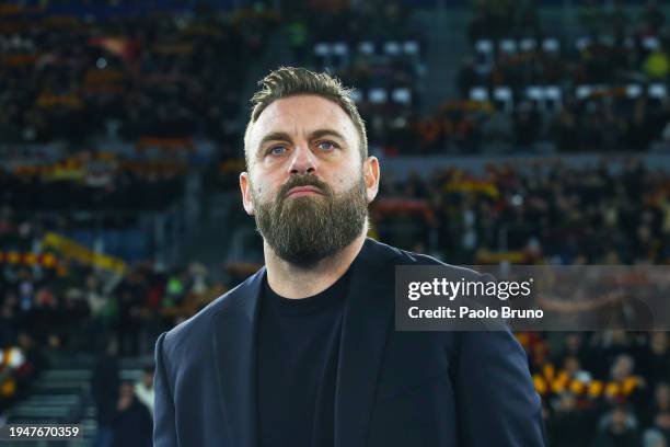
<svg viewBox="0 0 670 447">
<path fill-rule="evenodd" d="M 280 297 L 266 279 L 256 363 L 262 447 L 333 446 L 335 380 L 348 276 L 302 299 Z"/>
</svg>

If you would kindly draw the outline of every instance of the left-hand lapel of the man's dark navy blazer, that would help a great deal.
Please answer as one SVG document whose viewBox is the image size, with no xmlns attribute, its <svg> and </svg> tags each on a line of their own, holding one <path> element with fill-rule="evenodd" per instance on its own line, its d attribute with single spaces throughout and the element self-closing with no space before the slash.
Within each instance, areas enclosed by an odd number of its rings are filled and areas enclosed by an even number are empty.
<svg viewBox="0 0 670 447">
<path fill-rule="evenodd" d="M 231 291 L 228 302 L 212 316 L 219 401 L 231 447 L 257 445 L 256 324 L 264 277 L 265 267 Z"/>
</svg>

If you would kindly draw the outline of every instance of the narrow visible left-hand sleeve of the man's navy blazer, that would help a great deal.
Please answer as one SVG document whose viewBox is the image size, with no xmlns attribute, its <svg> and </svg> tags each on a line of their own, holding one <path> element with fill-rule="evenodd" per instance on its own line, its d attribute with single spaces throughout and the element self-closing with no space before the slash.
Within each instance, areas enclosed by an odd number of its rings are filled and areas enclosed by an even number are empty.
<svg viewBox="0 0 670 447">
<path fill-rule="evenodd" d="M 165 362 L 163 359 L 164 340 L 165 333 L 161 334 L 155 343 L 153 446 L 177 447 L 180 444 L 176 436 L 174 399 L 165 374 Z"/>
</svg>

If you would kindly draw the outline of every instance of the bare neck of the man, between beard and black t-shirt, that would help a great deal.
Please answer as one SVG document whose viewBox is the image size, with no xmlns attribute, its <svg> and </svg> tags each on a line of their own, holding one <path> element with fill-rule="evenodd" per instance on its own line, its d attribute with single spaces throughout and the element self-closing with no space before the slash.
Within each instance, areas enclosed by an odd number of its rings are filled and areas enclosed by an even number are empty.
<svg viewBox="0 0 670 447">
<path fill-rule="evenodd" d="M 294 299 L 322 293 L 347 272 L 366 241 L 366 233 L 367 231 L 361 232 L 342 251 L 308 267 L 298 267 L 286 262 L 264 241 L 263 251 L 270 288 L 277 295 Z"/>
</svg>

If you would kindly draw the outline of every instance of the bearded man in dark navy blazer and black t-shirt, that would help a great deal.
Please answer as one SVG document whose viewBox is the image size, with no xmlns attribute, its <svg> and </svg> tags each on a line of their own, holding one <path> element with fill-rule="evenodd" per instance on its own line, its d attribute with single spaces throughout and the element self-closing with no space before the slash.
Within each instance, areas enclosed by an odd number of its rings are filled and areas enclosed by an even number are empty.
<svg viewBox="0 0 670 447">
<path fill-rule="evenodd" d="M 439 262 L 366 239 L 380 168 L 349 92 L 261 84 L 240 187 L 265 266 L 159 337 L 155 445 L 544 445 L 509 332 L 394 331 L 395 265 Z"/>
</svg>

